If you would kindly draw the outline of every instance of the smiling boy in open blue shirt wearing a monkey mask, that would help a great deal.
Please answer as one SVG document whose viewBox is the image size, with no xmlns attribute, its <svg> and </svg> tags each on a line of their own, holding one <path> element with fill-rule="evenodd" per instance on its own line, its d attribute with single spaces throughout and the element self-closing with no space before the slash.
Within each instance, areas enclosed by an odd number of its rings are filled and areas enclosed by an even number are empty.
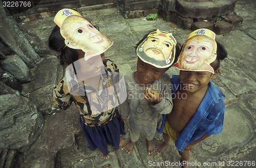
<svg viewBox="0 0 256 168">
<path fill-rule="evenodd" d="M 156 147 L 158 154 L 172 139 L 186 167 L 189 150 L 222 131 L 225 95 L 210 80 L 220 72 L 220 60 L 226 55 L 225 49 L 216 43 L 214 32 L 199 29 L 188 35 L 174 64 L 180 73 L 172 77 L 174 106 L 166 115 L 164 143 Z"/>
</svg>

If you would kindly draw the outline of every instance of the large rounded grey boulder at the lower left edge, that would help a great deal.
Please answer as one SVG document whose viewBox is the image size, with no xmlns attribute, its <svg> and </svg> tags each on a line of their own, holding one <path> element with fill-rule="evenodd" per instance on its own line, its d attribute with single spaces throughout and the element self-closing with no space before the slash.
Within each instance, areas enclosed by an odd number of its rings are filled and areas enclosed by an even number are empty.
<svg viewBox="0 0 256 168">
<path fill-rule="evenodd" d="M 0 148 L 27 151 L 42 131 L 35 104 L 18 95 L 0 95 Z"/>
</svg>

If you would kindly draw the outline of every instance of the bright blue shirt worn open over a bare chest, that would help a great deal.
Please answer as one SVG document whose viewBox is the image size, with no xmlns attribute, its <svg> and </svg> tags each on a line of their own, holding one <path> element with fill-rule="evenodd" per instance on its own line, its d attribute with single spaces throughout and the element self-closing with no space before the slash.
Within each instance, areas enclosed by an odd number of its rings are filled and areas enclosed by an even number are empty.
<svg viewBox="0 0 256 168">
<path fill-rule="evenodd" d="M 173 75 L 172 83 L 172 93 L 175 93 L 181 85 L 179 75 Z M 208 90 L 195 115 L 180 132 L 175 142 L 179 151 L 183 152 L 188 144 L 195 142 L 204 134 L 214 135 L 222 131 L 225 111 L 224 97 L 225 95 L 210 81 Z"/>
</svg>

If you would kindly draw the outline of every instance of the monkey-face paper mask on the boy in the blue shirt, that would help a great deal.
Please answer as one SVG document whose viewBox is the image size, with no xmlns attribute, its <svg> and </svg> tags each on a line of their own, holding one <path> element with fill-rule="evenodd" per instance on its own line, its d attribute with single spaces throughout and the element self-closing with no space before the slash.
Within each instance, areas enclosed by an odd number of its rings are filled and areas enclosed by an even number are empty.
<svg viewBox="0 0 256 168">
<path fill-rule="evenodd" d="M 177 63 L 180 70 L 209 71 L 214 73 L 210 63 L 217 57 L 215 33 L 208 29 L 198 29 L 187 36 Z"/>
</svg>

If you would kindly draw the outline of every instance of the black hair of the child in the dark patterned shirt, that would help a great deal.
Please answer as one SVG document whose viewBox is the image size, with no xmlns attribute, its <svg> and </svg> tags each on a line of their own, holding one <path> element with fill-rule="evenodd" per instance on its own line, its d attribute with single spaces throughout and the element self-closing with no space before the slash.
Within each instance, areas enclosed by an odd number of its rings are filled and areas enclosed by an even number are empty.
<svg viewBox="0 0 256 168">
<path fill-rule="evenodd" d="M 58 58 L 61 65 L 70 65 L 78 60 L 77 50 L 66 46 L 65 39 L 61 36 L 57 25 L 55 25 L 49 36 L 48 46 L 50 49 L 60 52 Z"/>
</svg>

